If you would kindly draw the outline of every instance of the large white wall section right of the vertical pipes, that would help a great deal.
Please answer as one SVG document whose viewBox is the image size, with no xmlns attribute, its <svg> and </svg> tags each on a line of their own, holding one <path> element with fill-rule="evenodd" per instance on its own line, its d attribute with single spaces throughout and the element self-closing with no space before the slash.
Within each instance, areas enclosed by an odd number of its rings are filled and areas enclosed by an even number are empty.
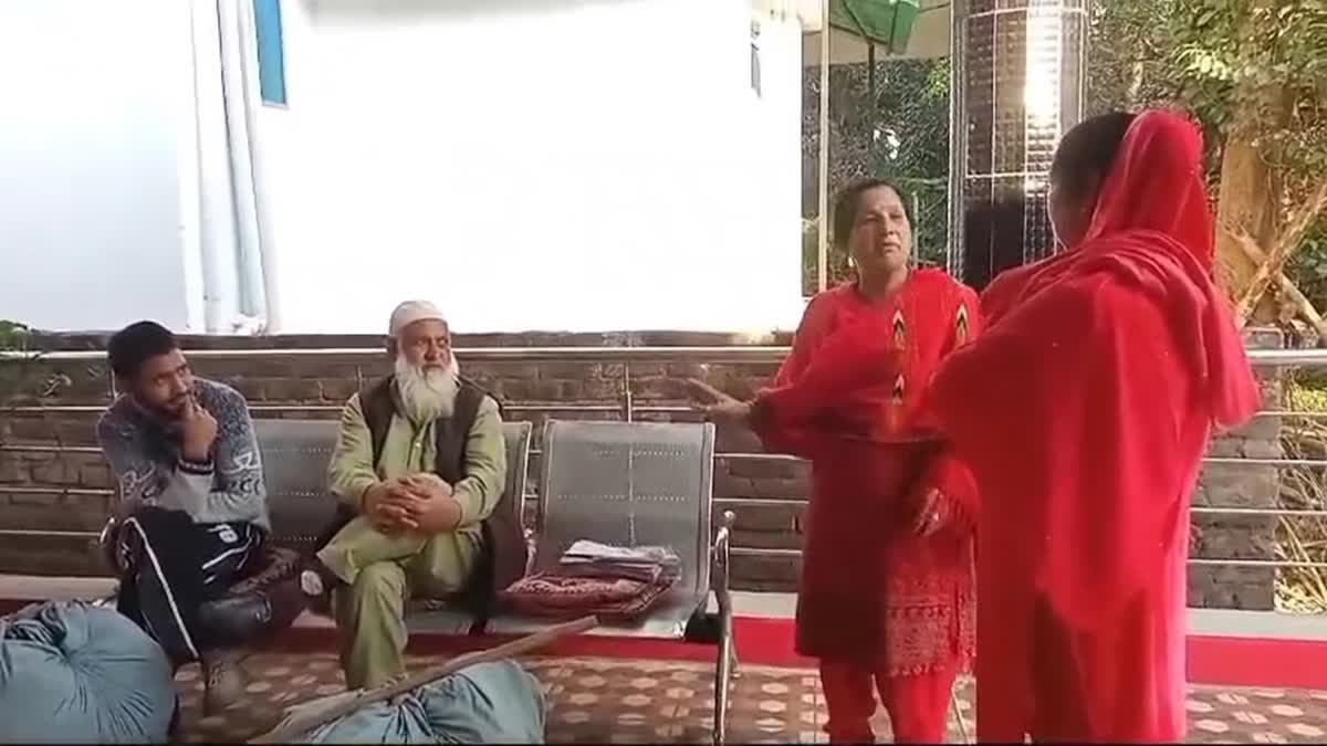
<svg viewBox="0 0 1327 746">
<path fill-rule="evenodd" d="M 289 108 L 259 123 L 279 331 L 380 332 L 405 297 L 464 331 L 796 323 L 800 49 L 758 102 L 748 0 L 283 13 Z M 766 44 L 799 45 L 787 24 Z"/>
</svg>

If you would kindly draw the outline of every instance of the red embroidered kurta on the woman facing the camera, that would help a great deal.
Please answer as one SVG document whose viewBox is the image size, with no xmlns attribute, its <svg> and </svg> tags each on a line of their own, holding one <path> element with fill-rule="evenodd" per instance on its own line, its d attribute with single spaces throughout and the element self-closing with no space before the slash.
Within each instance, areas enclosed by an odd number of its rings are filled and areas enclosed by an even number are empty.
<svg viewBox="0 0 1327 746">
<path fill-rule="evenodd" d="M 913 674 L 966 665 L 974 644 L 971 477 L 924 437 L 937 364 L 979 329 L 975 295 L 920 269 L 871 303 L 847 284 L 807 307 L 755 429 L 812 462 L 798 652 Z M 938 490 L 941 528 L 916 535 Z"/>
</svg>

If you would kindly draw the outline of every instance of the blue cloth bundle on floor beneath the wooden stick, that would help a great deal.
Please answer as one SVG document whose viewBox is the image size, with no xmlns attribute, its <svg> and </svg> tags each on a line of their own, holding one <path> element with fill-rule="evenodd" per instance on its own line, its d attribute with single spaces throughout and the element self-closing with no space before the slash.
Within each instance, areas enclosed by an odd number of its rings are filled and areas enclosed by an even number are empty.
<svg viewBox="0 0 1327 746">
<path fill-rule="evenodd" d="M 334 696 L 340 697 L 340 696 Z M 322 701 L 307 705 L 320 706 Z M 475 664 L 394 702 L 324 725 L 304 743 L 543 743 L 544 693 L 512 661 Z"/>
</svg>

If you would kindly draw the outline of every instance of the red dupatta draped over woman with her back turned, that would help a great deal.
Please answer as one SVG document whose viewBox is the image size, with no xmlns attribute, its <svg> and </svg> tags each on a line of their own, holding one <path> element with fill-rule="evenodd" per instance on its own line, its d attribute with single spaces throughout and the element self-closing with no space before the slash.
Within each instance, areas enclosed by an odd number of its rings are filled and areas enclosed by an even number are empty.
<svg viewBox="0 0 1327 746">
<path fill-rule="evenodd" d="M 1135 119 L 1084 242 L 997 279 L 986 333 L 930 390 L 982 491 L 982 563 L 990 550 L 1028 573 L 998 580 L 1034 583 L 1082 628 L 1108 621 L 1176 551 L 1210 425 L 1258 406 L 1210 277 L 1201 165 L 1190 122 Z"/>
</svg>

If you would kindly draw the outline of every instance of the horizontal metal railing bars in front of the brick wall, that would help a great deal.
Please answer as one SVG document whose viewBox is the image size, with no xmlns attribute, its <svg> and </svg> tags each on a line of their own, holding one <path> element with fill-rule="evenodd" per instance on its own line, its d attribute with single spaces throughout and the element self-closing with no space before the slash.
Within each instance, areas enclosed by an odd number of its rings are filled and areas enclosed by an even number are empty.
<svg viewBox="0 0 1327 746">
<path fill-rule="evenodd" d="M 581 402 L 511 402 L 503 408 L 512 414 L 616 414 L 624 421 L 632 422 L 637 415 L 695 415 L 697 410 L 687 405 L 638 402 L 632 392 L 632 365 L 646 362 L 691 364 L 705 370 L 707 365 L 768 365 L 774 366 L 788 353 L 786 346 L 528 346 L 528 348 L 458 348 L 456 358 L 464 364 L 537 364 L 537 362 L 579 362 L 620 366 L 616 374 L 620 381 L 620 392 L 614 404 L 581 404 Z M 373 364 L 384 360 L 381 349 L 366 348 L 309 348 L 309 349 L 200 349 L 187 352 L 192 360 L 224 360 L 224 358 L 313 358 L 337 357 L 346 362 Z M 349 358 L 349 360 L 346 360 Z M 76 352 L 49 352 L 49 353 L 23 353 L 0 352 L 0 364 L 4 361 L 40 361 L 40 362 L 81 362 L 104 361 L 105 353 L 101 350 Z M 1249 350 L 1249 360 L 1258 368 L 1289 368 L 1289 366 L 1327 366 L 1327 349 L 1253 349 Z M 658 376 L 658 373 L 653 373 Z M 605 376 L 605 377 L 608 377 Z M 362 368 L 356 368 L 357 381 L 365 378 Z M 107 394 L 113 385 L 107 374 Z M 255 415 L 281 415 L 295 413 L 334 413 L 341 410 L 341 405 L 332 404 L 253 404 L 249 409 Z M 0 413 L 7 414 L 92 414 L 102 411 L 100 405 L 20 405 L 0 408 Z M 1322 411 L 1282 411 L 1265 410 L 1259 417 L 1278 418 L 1327 418 Z M 84 453 L 96 454 L 98 449 L 93 446 L 68 446 L 58 443 L 11 443 L 0 445 L 0 451 L 29 451 L 29 453 Z M 539 455 L 539 449 L 533 449 L 531 455 Z M 786 461 L 800 463 L 802 459 L 783 454 L 766 453 L 717 453 L 715 458 L 726 462 L 736 461 Z M 1327 469 L 1327 459 L 1303 458 L 1233 458 L 1208 457 L 1204 459 L 1209 466 L 1246 466 L 1246 467 L 1323 467 Z M 0 491 L 21 494 L 50 494 L 69 496 L 107 496 L 111 490 L 80 488 L 80 487 L 48 487 L 28 485 L 3 485 Z M 791 507 L 803 508 L 805 499 L 770 499 L 770 498 L 717 498 L 717 502 L 733 506 L 747 507 Z M 1239 515 L 1239 516 L 1266 516 L 1266 518 L 1327 518 L 1327 510 L 1290 510 L 1290 508 L 1254 508 L 1254 507 L 1209 507 L 1194 506 L 1194 515 Z M 37 530 L 9 530 L 0 528 L 4 535 L 49 535 L 49 536 L 88 536 L 94 538 L 96 532 L 78 531 L 37 531 Z M 764 556 L 764 558 L 796 558 L 800 550 L 776 550 L 755 547 L 734 547 L 734 556 Z M 1327 568 L 1327 561 L 1282 561 L 1282 560 L 1239 560 L 1239 559 L 1193 559 L 1197 565 L 1223 565 L 1223 567 L 1296 567 L 1296 568 Z"/>
</svg>

